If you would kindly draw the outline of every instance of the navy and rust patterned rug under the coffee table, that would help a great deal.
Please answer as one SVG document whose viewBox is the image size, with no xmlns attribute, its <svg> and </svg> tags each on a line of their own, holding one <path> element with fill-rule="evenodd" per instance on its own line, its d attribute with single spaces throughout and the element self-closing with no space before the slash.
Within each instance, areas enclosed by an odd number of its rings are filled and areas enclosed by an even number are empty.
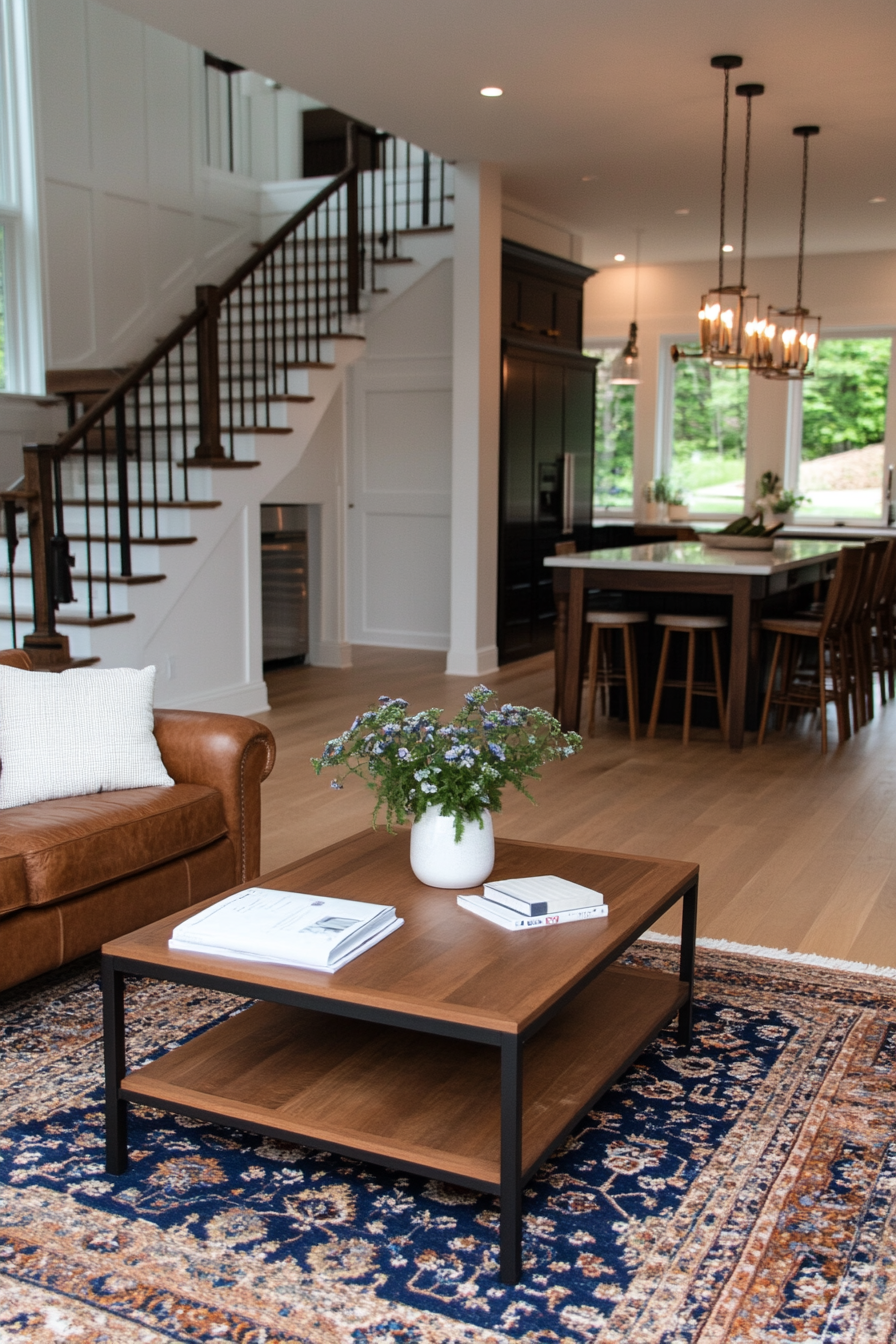
<svg viewBox="0 0 896 1344">
<path fill-rule="evenodd" d="M 136 985 L 132 1063 L 239 1008 Z M 895 1337 L 892 980 L 701 950 L 693 1051 L 668 1032 L 539 1172 L 516 1288 L 492 1196 L 150 1110 L 106 1176 L 97 964 L 0 1013 L 4 1344 Z"/>
</svg>

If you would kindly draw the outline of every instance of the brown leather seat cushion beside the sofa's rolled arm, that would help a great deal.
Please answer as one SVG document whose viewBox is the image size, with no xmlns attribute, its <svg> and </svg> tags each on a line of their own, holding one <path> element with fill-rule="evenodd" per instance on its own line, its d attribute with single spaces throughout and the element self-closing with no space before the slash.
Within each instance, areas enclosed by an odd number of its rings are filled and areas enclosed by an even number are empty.
<svg viewBox="0 0 896 1344">
<path fill-rule="evenodd" d="M 216 789 L 200 784 L 121 789 L 0 812 L 0 863 L 20 856 L 28 903 L 42 906 L 153 868 L 224 835 Z"/>
</svg>

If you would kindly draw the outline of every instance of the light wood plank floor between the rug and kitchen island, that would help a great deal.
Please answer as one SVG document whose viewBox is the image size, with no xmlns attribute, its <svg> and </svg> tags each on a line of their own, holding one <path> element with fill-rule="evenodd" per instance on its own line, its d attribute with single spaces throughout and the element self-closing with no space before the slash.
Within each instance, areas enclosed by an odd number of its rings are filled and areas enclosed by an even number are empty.
<svg viewBox="0 0 896 1344">
<path fill-rule="evenodd" d="M 259 718 L 278 758 L 262 794 L 263 870 L 369 824 L 361 781 L 336 792 L 309 758 L 379 695 L 453 715 L 472 679 L 445 676 L 443 665 L 439 653 L 356 648 L 345 671 L 269 675 L 271 711 Z M 551 708 L 548 656 L 486 680 L 502 702 Z M 688 747 L 672 727 L 633 743 L 621 723 L 599 720 L 580 755 L 545 767 L 537 806 L 505 793 L 496 832 L 696 860 L 700 935 L 896 966 L 896 703 L 827 757 L 818 741 L 806 722 L 735 753 L 709 730 Z M 657 929 L 674 933 L 674 918 Z"/>
</svg>

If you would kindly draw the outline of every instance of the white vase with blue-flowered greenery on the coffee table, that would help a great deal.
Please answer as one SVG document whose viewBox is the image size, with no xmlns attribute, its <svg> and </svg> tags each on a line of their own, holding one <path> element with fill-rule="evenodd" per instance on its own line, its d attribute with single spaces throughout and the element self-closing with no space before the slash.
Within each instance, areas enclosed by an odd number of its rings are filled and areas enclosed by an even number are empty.
<svg viewBox="0 0 896 1344">
<path fill-rule="evenodd" d="M 339 771 L 330 788 L 355 774 L 376 797 L 372 824 L 414 823 L 411 867 L 431 887 L 477 886 L 494 864 L 492 813 L 501 810 L 508 784 L 535 801 L 527 780 L 548 761 L 582 750 L 578 732 L 563 732 L 545 710 L 497 706 L 485 685 L 474 685 L 447 723 L 442 710 L 407 714 L 407 700 L 380 696 L 351 728 L 332 738 L 314 773 Z"/>
</svg>

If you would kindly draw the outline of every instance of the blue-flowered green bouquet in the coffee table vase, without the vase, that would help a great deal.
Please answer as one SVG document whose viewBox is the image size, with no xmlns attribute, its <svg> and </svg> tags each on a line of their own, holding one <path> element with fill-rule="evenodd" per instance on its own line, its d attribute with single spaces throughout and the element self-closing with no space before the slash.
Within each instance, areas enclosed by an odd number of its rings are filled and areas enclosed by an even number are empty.
<svg viewBox="0 0 896 1344">
<path fill-rule="evenodd" d="M 438 804 L 454 817 L 459 841 L 465 821 L 482 827 L 485 812 L 501 810 L 501 790 L 512 784 L 531 802 L 525 780 L 537 780 L 547 761 L 582 750 L 578 732 L 563 732 L 544 710 L 502 704 L 494 691 L 474 685 L 463 696 L 463 708 L 449 723 L 442 710 L 407 714 L 407 700 L 382 695 L 377 707 L 359 714 L 351 728 L 326 743 L 312 758 L 314 773 L 341 770 L 332 789 L 341 789 L 356 774 L 376 794 L 373 825 L 386 809 L 386 825 L 418 820 Z"/>
</svg>

